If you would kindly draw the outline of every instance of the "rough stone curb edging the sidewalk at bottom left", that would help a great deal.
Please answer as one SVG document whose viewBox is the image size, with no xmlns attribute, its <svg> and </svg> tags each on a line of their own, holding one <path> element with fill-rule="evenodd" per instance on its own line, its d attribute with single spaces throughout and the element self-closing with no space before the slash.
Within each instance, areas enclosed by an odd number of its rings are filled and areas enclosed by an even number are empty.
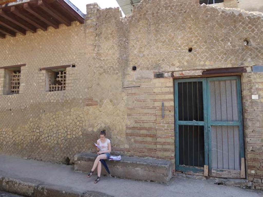
<svg viewBox="0 0 263 197">
<path fill-rule="evenodd" d="M 113 197 L 98 191 L 84 193 L 69 187 L 48 185 L 34 179 L 15 179 L 0 176 L 0 191 L 27 197 Z"/>
</svg>

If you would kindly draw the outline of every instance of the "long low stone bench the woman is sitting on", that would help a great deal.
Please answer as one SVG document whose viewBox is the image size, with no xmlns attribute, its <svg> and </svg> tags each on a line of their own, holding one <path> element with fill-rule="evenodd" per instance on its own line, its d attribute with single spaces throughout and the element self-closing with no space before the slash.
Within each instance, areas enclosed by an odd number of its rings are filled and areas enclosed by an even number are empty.
<svg viewBox="0 0 263 197">
<path fill-rule="evenodd" d="M 74 156 L 74 171 L 88 173 L 97 157 L 94 153 L 79 153 Z M 120 178 L 166 183 L 171 179 L 171 162 L 160 159 L 125 157 L 120 161 L 106 161 L 110 174 Z M 107 175 L 102 166 L 102 175 Z"/>
</svg>

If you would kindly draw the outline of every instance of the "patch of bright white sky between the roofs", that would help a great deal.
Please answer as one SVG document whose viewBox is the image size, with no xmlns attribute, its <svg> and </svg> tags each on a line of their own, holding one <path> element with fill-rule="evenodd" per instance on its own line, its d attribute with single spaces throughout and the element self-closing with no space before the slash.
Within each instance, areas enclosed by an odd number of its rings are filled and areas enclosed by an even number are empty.
<svg viewBox="0 0 263 197">
<path fill-rule="evenodd" d="M 72 2 L 75 6 L 77 6 L 77 8 L 79 8 L 81 12 L 84 14 L 87 13 L 86 5 L 89 3 L 98 3 L 102 9 L 110 8 L 110 7 L 112 8 L 120 7 L 116 0 L 70 0 L 70 2 Z"/>
</svg>

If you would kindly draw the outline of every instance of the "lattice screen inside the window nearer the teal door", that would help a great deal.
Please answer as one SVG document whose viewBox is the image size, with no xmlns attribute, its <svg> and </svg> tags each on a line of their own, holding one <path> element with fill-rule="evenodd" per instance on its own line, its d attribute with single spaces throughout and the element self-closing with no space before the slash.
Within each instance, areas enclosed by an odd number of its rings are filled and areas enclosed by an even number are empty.
<svg viewBox="0 0 263 197">
<path fill-rule="evenodd" d="M 49 92 L 62 91 L 66 89 L 66 71 L 55 72 L 55 79 L 49 81 Z"/>
</svg>

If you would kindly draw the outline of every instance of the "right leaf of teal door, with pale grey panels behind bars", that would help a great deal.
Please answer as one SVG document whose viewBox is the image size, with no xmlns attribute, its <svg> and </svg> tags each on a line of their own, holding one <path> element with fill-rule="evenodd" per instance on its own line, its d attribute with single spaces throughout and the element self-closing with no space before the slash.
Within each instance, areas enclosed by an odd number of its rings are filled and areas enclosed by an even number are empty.
<svg viewBox="0 0 263 197">
<path fill-rule="evenodd" d="M 239 77 L 207 78 L 210 175 L 240 178 L 244 157 Z"/>
</svg>

